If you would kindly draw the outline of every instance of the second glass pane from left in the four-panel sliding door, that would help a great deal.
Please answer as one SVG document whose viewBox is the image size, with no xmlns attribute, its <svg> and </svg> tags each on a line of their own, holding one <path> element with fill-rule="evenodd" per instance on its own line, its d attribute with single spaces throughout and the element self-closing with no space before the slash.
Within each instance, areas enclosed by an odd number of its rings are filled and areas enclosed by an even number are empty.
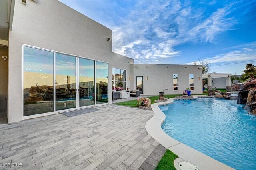
<svg viewBox="0 0 256 170">
<path fill-rule="evenodd" d="M 56 110 L 76 108 L 76 58 L 56 53 Z"/>
</svg>

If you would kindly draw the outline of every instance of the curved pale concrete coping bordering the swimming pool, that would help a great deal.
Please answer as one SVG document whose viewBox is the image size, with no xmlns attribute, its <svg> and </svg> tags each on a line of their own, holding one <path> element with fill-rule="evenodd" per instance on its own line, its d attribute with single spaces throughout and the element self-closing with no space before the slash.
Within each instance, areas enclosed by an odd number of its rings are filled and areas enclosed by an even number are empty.
<svg viewBox="0 0 256 170">
<path fill-rule="evenodd" d="M 214 96 L 196 95 L 193 96 L 193 98 L 170 98 L 166 102 L 152 104 L 151 108 L 154 111 L 154 116 L 145 124 L 148 134 L 162 144 L 162 146 L 172 150 L 172 152 L 179 156 L 179 159 L 174 161 L 177 170 L 180 170 L 178 163 L 181 161 L 188 161 L 201 170 L 234 170 L 234 168 L 175 140 L 162 130 L 161 126 L 166 116 L 162 110 L 160 110 L 159 106 L 172 104 L 174 100 L 196 100 L 197 98 L 214 98 Z"/>
</svg>

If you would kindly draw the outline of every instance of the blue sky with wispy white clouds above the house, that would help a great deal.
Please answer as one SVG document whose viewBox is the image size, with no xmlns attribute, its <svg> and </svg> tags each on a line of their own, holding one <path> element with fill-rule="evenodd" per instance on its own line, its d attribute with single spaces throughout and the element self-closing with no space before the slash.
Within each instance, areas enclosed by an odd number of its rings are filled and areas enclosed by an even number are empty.
<svg viewBox="0 0 256 170">
<path fill-rule="evenodd" d="M 256 65 L 256 1 L 61 2 L 113 30 L 113 52 L 135 63 L 203 58 L 211 62 L 210 72 L 236 75 L 246 64 Z"/>
</svg>

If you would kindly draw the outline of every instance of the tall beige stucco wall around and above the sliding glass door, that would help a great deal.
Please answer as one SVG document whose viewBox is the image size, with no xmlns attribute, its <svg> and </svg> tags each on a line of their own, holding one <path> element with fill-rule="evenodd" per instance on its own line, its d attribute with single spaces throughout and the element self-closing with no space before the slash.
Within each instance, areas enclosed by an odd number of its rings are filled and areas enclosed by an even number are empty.
<svg viewBox="0 0 256 170">
<path fill-rule="evenodd" d="M 22 120 L 22 44 L 108 62 L 110 104 L 111 68 L 125 69 L 129 76 L 133 63 L 133 59 L 112 52 L 112 30 L 76 10 L 57 0 L 26 1 L 26 5 L 18 0 L 9 32 L 9 123 Z"/>
</svg>

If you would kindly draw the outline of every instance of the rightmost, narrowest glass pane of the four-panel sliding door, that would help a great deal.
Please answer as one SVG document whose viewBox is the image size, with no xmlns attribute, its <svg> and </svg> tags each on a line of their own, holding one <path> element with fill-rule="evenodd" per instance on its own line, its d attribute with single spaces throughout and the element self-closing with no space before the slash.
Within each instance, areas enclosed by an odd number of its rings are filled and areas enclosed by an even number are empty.
<svg viewBox="0 0 256 170">
<path fill-rule="evenodd" d="M 108 102 L 108 64 L 96 62 L 96 104 Z"/>
</svg>

